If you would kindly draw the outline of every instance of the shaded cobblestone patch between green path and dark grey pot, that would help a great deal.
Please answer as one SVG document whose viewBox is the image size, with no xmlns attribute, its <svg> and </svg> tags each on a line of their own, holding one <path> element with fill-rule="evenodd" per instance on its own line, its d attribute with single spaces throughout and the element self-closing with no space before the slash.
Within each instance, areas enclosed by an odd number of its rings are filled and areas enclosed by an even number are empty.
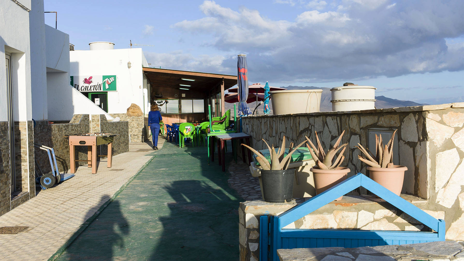
<svg viewBox="0 0 464 261">
<path fill-rule="evenodd" d="M 232 162 L 228 172 L 231 174 L 227 180 L 229 186 L 235 189 L 245 201 L 262 198 L 259 179 L 251 176 L 248 164 L 243 163 L 243 161 Z"/>
</svg>

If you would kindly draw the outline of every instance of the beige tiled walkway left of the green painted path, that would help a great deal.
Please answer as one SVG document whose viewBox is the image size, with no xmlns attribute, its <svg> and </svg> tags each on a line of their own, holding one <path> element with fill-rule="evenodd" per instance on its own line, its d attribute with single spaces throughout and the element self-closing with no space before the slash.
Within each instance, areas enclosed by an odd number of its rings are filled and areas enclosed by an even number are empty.
<svg viewBox="0 0 464 261">
<path fill-rule="evenodd" d="M 160 137 L 158 148 L 163 143 Z M 96 175 L 80 166 L 76 176 L 39 191 L 36 197 L 0 216 L 0 227 L 29 227 L 15 235 L 0 235 L 0 260 L 48 260 L 153 157 L 156 151 L 149 145 L 130 144 L 129 152 L 113 157 L 112 168 L 106 168 L 106 162 L 102 161 Z"/>
</svg>

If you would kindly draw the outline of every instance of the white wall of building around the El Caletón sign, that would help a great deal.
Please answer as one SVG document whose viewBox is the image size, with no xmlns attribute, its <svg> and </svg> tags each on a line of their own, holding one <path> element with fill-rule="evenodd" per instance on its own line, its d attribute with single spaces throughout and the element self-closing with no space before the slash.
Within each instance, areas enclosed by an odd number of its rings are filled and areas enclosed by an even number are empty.
<svg viewBox="0 0 464 261">
<path fill-rule="evenodd" d="M 70 51 L 70 61 L 70 76 L 116 75 L 117 91 L 108 92 L 109 113 L 126 113 L 132 103 L 143 110 L 142 66 L 148 63 L 141 48 Z"/>
</svg>

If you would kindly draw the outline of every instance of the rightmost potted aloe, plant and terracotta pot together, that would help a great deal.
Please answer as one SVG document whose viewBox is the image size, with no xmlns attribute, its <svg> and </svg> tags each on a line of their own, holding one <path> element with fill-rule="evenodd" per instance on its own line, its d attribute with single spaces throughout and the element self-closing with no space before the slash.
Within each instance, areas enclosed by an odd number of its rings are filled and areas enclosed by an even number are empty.
<svg viewBox="0 0 464 261">
<path fill-rule="evenodd" d="M 359 143 L 359 146 L 356 146 L 356 148 L 361 150 L 365 156 L 359 155 L 358 158 L 368 165 L 369 177 L 400 196 L 407 168 L 393 164 L 393 138 L 395 137 L 395 133 L 396 130 L 385 146 L 382 141 L 382 135 L 377 137 L 377 134 L 375 134 L 375 155 L 369 149 L 364 149 Z"/>
</svg>

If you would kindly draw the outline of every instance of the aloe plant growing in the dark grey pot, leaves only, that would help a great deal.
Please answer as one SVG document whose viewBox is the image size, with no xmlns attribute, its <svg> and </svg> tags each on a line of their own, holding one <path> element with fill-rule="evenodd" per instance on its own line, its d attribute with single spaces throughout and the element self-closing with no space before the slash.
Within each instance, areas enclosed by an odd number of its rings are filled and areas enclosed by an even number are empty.
<svg viewBox="0 0 464 261">
<path fill-rule="evenodd" d="M 275 150 L 274 144 L 272 144 L 272 147 L 267 144 L 267 142 L 262 139 L 264 143 L 266 144 L 267 148 L 269 149 L 269 154 L 271 155 L 271 163 L 264 157 L 263 154 L 261 154 L 259 151 L 251 148 L 250 146 L 246 144 L 242 144 L 243 146 L 247 147 L 251 151 L 253 151 L 254 154 L 256 154 L 256 159 L 258 160 L 259 165 L 263 168 L 263 170 L 286 170 L 290 164 L 290 157 L 295 152 L 295 150 L 303 145 L 306 141 L 303 141 L 300 143 L 298 146 L 293 148 L 293 142 L 290 143 L 289 147 L 289 153 L 287 156 L 284 157 L 284 152 L 285 152 L 285 136 L 282 140 L 282 145 L 280 148 Z"/>
</svg>

